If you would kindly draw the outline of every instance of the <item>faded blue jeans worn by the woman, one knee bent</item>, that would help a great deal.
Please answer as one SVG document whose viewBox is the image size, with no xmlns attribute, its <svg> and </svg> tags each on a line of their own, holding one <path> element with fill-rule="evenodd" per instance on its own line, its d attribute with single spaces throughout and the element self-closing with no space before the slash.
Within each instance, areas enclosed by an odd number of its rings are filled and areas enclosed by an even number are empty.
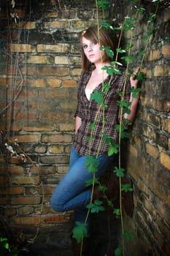
<svg viewBox="0 0 170 256">
<path fill-rule="evenodd" d="M 98 155 L 98 170 L 96 178 L 101 176 L 112 164 L 114 156 L 107 154 Z M 85 222 L 88 213 L 87 204 L 90 202 L 91 191 L 86 187 L 85 181 L 93 178 L 93 173 L 88 173 L 85 166 L 86 156 L 80 156 L 72 146 L 70 154 L 70 167 L 60 183 L 55 188 L 50 203 L 55 211 L 74 210 L 74 221 Z M 90 228 L 90 217 L 88 218 L 88 231 Z"/>
</svg>

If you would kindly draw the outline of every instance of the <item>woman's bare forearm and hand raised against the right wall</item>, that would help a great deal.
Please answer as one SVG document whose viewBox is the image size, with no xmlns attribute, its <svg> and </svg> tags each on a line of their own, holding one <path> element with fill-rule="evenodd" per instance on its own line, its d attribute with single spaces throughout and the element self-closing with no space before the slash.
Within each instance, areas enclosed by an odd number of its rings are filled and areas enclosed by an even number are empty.
<svg viewBox="0 0 170 256">
<path fill-rule="evenodd" d="M 130 78 L 131 87 L 134 86 L 134 89 L 138 88 L 138 80 L 136 79 L 136 74 L 137 74 L 137 72 L 139 72 L 139 69 L 140 68 L 138 67 L 134 72 L 134 76 Z M 134 118 L 135 118 L 135 115 L 136 115 L 136 110 L 137 110 L 137 106 L 138 106 L 138 102 L 139 102 L 139 97 L 140 97 L 139 93 L 138 93 L 137 98 L 134 98 L 132 96 L 132 93 L 131 93 L 131 96 L 130 96 L 130 99 L 129 99 L 129 102 L 131 102 L 131 105 L 129 107 L 129 109 L 131 110 L 131 113 L 130 114 L 125 113 L 125 115 L 124 115 L 124 118 L 128 119 L 131 122 L 134 121 Z"/>
</svg>

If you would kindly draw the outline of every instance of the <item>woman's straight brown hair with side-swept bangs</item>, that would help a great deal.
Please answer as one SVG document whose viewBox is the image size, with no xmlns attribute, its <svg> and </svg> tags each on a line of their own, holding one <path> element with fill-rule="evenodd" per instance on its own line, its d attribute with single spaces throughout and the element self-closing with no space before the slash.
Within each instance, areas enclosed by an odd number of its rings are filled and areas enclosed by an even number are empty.
<svg viewBox="0 0 170 256">
<path fill-rule="evenodd" d="M 86 39 L 98 43 L 101 46 L 110 46 L 110 48 L 114 51 L 114 45 L 112 42 L 112 39 L 110 38 L 108 32 L 104 29 L 97 29 L 96 26 L 91 26 L 88 29 L 85 29 L 82 31 L 80 35 L 80 42 L 82 41 L 82 37 L 85 37 Z M 85 56 L 84 50 L 81 46 L 81 57 L 82 57 L 82 70 L 87 70 L 91 66 L 91 62 L 88 61 L 87 57 Z M 103 61 L 111 61 L 111 58 L 107 55 L 107 53 L 104 54 Z"/>
</svg>

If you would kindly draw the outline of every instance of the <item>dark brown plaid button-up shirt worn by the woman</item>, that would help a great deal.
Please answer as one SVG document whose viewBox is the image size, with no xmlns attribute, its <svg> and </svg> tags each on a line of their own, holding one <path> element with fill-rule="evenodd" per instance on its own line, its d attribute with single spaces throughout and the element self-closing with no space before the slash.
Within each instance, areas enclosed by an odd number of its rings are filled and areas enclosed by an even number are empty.
<svg viewBox="0 0 170 256">
<path fill-rule="evenodd" d="M 106 91 L 104 100 L 104 104 L 107 105 L 107 108 L 104 109 L 96 100 L 88 100 L 85 95 L 85 87 L 90 79 L 93 68 L 82 72 L 77 94 L 78 103 L 75 116 L 79 116 L 82 119 L 82 124 L 74 136 L 74 148 L 77 153 L 82 156 L 87 154 L 96 155 L 107 153 L 108 145 L 106 141 L 102 139 L 102 135 L 106 134 L 117 142 L 119 133 L 114 129 L 115 124 L 119 124 L 120 118 L 120 107 L 117 105 L 117 101 L 122 100 L 117 93 L 123 91 L 125 70 L 121 69 L 121 75 L 115 75 L 112 78 L 109 91 Z M 104 84 L 109 83 L 109 80 L 110 76 L 104 80 Z M 102 87 L 101 83 L 95 91 L 98 90 L 101 92 Z M 129 78 L 127 78 L 123 99 L 129 100 L 130 89 L 131 83 Z"/>
</svg>

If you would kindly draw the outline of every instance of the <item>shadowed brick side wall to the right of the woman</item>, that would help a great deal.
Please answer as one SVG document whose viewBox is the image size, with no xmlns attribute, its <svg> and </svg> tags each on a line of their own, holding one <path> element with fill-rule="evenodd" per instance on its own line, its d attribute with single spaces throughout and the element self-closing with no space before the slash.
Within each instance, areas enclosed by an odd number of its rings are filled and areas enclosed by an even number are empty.
<svg viewBox="0 0 170 256">
<path fill-rule="evenodd" d="M 143 7 L 154 12 L 148 3 Z M 170 255 L 169 14 L 169 8 L 160 6 L 142 69 L 138 113 L 123 151 L 134 181 L 134 217 L 125 218 L 125 228 L 133 230 L 136 238 L 127 242 L 127 255 Z M 142 16 L 138 22 L 134 56 L 144 49 L 142 38 L 147 34 Z"/>
</svg>

